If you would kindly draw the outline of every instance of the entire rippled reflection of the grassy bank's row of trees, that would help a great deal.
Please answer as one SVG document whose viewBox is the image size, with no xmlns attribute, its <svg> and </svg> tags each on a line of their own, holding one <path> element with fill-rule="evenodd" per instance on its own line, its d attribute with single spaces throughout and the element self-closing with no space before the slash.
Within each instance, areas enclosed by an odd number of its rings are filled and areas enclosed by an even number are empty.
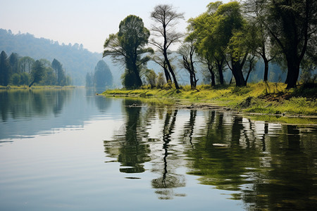
<svg viewBox="0 0 317 211">
<path fill-rule="evenodd" d="M 123 106 L 125 124 L 104 141 L 106 154 L 124 173 L 144 172 L 151 164 L 151 187 L 159 199 L 187 196 L 179 192 L 186 186 L 179 169 L 186 166 L 201 184 L 235 191 L 228 197 L 250 210 L 316 207 L 315 126 L 254 122 L 216 110 L 180 114 L 128 100 Z"/>
</svg>

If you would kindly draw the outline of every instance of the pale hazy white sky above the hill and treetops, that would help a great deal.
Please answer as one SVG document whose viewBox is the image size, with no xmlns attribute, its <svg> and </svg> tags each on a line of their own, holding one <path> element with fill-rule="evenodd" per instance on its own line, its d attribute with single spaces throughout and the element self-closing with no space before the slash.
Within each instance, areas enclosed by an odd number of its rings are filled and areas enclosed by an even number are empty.
<svg viewBox="0 0 317 211">
<path fill-rule="evenodd" d="M 101 53 L 108 34 L 118 32 L 120 21 L 128 15 L 139 16 L 149 29 L 149 15 L 157 4 L 173 4 L 188 20 L 206 11 L 211 1 L 0 0 L 0 28 L 14 34 L 29 32 L 59 44 L 83 44 L 85 49 Z M 185 20 L 180 23 L 180 32 L 185 32 Z"/>
</svg>

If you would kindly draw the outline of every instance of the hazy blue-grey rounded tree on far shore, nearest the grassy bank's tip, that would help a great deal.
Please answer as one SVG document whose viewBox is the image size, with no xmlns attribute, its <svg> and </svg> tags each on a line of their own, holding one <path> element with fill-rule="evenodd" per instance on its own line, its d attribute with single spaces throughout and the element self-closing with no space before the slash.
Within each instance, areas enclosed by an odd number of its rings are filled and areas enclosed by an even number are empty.
<svg viewBox="0 0 317 211">
<path fill-rule="evenodd" d="M 104 60 L 99 60 L 94 68 L 94 84 L 96 87 L 112 86 L 112 74 Z"/>
</svg>

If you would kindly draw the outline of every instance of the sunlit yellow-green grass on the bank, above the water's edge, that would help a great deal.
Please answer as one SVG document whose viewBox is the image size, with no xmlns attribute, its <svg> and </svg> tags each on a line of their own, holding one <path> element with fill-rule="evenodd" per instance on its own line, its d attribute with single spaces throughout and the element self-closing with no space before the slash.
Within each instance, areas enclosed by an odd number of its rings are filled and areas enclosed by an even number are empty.
<svg viewBox="0 0 317 211">
<path fill-rule="evenodd" d="M 245 113 L 280 115 L 317 115 L 317 88 L 286 90 L 282 83 L 256 83 L 247 87 L 189 86 L 177 89 L 107 90 L 105 96 L 138 98 L 143 101 L 164 104 L 209 104 L 223 106 Z"/>
</svg>

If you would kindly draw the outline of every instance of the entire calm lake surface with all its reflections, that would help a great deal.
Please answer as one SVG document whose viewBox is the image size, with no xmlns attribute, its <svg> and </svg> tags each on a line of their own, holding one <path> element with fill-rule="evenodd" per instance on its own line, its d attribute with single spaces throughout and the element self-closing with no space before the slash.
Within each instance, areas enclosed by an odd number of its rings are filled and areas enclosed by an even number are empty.
<svg viewBox="0 0 317 211">
<path fill-rule="evenodd" d="M 0 91 L 0 210 L 314 210 L 317 126 Z"/>
</svg>

